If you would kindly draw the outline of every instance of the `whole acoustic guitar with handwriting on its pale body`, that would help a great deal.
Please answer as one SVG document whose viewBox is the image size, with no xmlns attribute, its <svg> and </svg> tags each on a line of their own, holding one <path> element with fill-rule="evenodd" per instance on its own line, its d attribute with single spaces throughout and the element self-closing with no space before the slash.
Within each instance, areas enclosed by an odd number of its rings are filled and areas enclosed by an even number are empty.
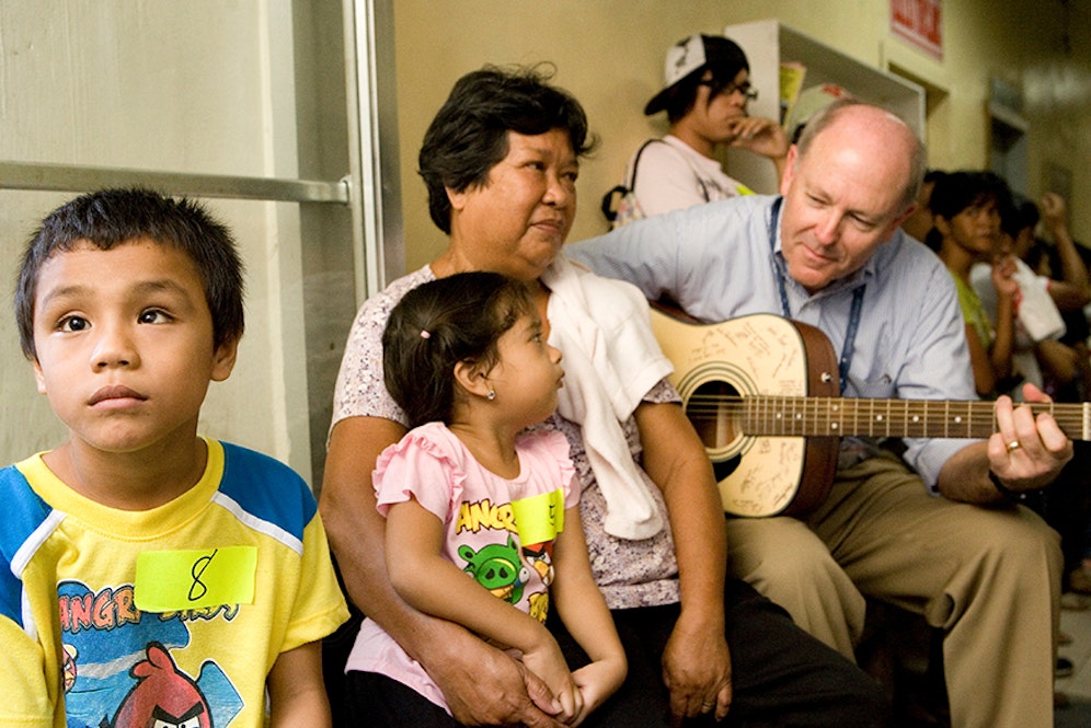
<svg viewBox="0 0 1091 728">
<path fill-rule="evenodd" d="M 684 315 L 684 314 L 682 314 Z M 652 328 L 712 461 L 724 511 L 801 516 L 825 500 L 840 438 L 987 438 L 991 402 L 840 397 L 837 356 L 807 324 L 755 314 L 719 324 L 652 309 Z M 1091 439 L 1091 403 L 1033 404 Z"/>
</svg>

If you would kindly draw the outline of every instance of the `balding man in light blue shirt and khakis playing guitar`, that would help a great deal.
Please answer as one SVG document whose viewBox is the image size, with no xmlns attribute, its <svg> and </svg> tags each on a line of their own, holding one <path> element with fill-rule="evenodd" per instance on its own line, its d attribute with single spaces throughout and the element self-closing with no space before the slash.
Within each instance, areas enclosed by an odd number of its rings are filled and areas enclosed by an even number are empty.
<svg viewBox="0 0 1091 728">
<path fill-rule="evenodd" d="M 778 314 L 840 353 L 847 397 L 974 400 L 951 276 L 899 229 L 925 150 L 887 111 L 835 102 L 789 152 L 780 197 L 747 196 L 573 243 L 600 275 L 719 322 Z M 1046 401 L 1032 386 L 1027 400 Z M 1048 414 L 995 405 L 987 440 L 907 438 L 901 458 L 842 438 L 826 501 L 803 520 L 730 519 L 730 567 L 795 622 L 853 655 L 864 597 L 943 629 L 952 725 L 1053 725 L 1058 538 L 1023 494 L 1072 453 Z M 940 496 L 940 497 L 937 497 Z"/>
</svg>

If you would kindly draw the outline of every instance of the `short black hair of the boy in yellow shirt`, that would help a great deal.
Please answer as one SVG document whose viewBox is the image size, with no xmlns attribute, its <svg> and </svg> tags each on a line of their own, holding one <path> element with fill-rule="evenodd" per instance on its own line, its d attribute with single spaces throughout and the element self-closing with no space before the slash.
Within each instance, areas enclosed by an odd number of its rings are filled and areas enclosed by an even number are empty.
<svg viewBox="0 0 1091 728">
<path fill-rule="evenodd" d="M 26 243 L 15 284 L 15 321 L 26 358 L 37 357 L 34 299 L 42 266 L 82 245 L 108 251 L 142 238 L 177 249 L 194 262 L 211 312 L 216 348 L 242 336 L 243 267 L 228 228 L 184 197 L 141 188 L 102 189 L 58 207 Z"/>
</svg>

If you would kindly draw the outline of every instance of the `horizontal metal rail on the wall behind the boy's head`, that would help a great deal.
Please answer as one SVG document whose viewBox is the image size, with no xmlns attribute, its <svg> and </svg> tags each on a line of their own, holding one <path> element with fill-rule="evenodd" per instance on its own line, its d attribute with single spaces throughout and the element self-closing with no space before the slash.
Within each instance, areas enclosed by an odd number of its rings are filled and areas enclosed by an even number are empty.
<svg viewBox="0 0 1091 728">
<path fill-rule="evenodd" d="M 104 187 L 150 187 L 165 194 L 285 203 L 348 205 L 347 180 L 277 180 L 217 174 L 190 174 L 104 166 L 71 166 L 0 161 L 0 189 L 91 192 Z"/>
</svg>

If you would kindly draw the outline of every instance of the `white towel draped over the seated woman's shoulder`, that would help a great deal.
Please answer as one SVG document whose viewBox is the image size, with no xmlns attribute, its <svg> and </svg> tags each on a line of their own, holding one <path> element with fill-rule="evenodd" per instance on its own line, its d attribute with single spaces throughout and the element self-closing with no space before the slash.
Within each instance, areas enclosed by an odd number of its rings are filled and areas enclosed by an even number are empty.
<svg viewBox="0 0 1091 728">
<path fill-rule="evenodd" d="M 542 275 L 550 344 L 564 355 L 558 412 L 583 430 L 587 459 L 607 502 L 604 528 L 640 540 L 663 529 L 621 423 L 673 371 L 652 333 L 647 301 L 631 284 L 596 276 L 563 255 Z"/>
</svg>

